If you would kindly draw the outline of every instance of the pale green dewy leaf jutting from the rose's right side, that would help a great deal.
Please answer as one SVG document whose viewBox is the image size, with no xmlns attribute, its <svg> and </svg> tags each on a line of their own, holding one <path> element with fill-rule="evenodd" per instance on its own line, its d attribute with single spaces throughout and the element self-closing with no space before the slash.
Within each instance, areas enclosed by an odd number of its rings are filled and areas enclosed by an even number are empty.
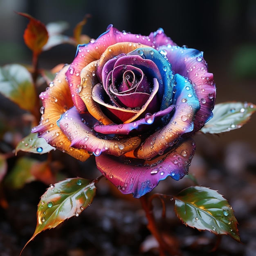
<svg viewBox="0 0 256 256">
<path fill-rule="evenodd" d="M 256 111 L 256 105 L 242 102 L 216 104 L 213 118 L 201 129 L 204 133 L 221 133 L 242 127 Z"/>
</svg>

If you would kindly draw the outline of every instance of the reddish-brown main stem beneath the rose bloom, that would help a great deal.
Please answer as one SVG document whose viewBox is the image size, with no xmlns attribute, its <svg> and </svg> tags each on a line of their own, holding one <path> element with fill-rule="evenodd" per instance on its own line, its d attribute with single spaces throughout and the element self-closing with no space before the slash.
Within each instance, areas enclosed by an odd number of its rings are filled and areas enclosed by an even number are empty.
<svg viewBox="0 0 256 256">
<path fill-rule="evenodd" d="M 151 234 L 153 236 L 155 236 L 155 238 L 157 239 L 157 241 L 159 243 L 159 256 L 180 255 L 180 253 L 177 252 L 177 250 L 175 248 L 171 247 L 170 245 L 168 245 L 164 241 L 161 233 L 157 229 L 157 225 L 156 225 L 156 222 L 155 222 L 155 217 L 154 217 L 154 214 L 153 214 L 153 205 L 151 203 L 152 199 L 148 201 L 147 198 L 146 198 L 146 195 L 143 195 L 140 198 L 140 201 L 141 201 L 142 208 L 144 209 L 144 211 L 146 213 L 146 218 L 148 219 L 148 225 L 147 225 L 148 230 L 151 232 Z"/>
</svg>

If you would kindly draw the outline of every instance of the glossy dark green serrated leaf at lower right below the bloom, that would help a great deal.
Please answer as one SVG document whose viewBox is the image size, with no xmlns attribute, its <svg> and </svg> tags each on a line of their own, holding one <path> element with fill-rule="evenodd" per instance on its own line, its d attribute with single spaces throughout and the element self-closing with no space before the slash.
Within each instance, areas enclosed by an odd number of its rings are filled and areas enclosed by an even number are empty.
<svg viewBox="0 0 256 256">
<path fill-rule="evenodd" d="M 230 235 L 240 242 L 234 211 L 215 190 L 202 186 L 184 189 L 175 196 L 174 210 L 186 226 Z"/>
</svg>

